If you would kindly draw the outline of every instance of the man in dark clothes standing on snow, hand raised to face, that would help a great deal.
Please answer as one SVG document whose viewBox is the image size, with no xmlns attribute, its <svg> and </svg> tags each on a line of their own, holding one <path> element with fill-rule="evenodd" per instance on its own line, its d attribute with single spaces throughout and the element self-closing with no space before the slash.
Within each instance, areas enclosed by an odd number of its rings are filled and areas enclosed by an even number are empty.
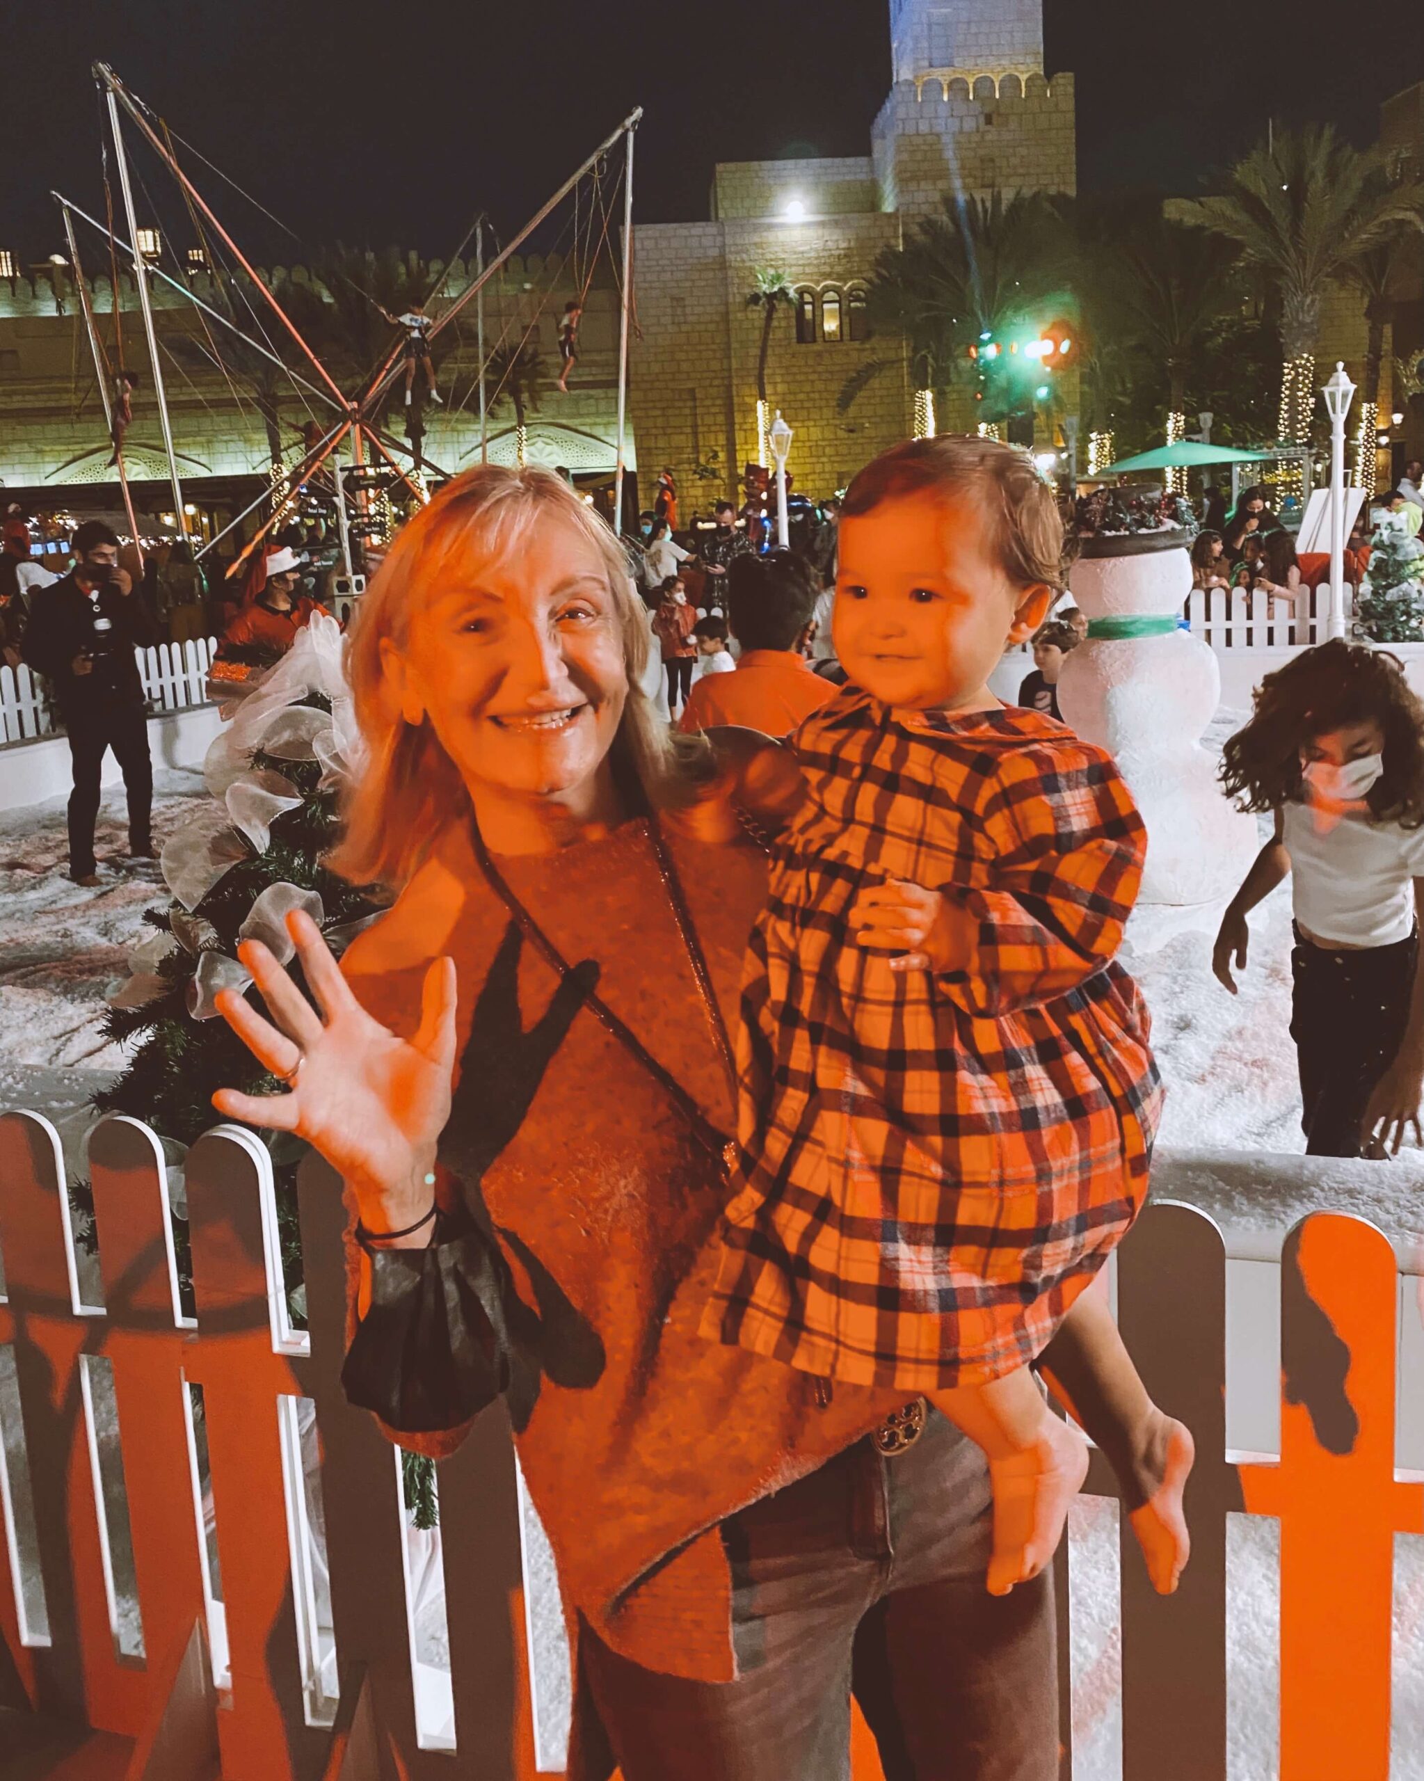
<svg viewBox="0 0 1424 1781">
<path fill-rule="evenodd" d="M 119 565 L 119 540 L 103 520 L 75 533 L 75 566 L 36 593 L 20 654 L 50 682 L 69 736 L 75 789 L 69 794 L 69 876 L 100 883 L 94 819 L 105 750 L 128 793 L 128 857 L 153 858 L 150 812 L 153 766 L 148 711 L 135 648 L 157 641 L 153 623 Z"/>
</svg>

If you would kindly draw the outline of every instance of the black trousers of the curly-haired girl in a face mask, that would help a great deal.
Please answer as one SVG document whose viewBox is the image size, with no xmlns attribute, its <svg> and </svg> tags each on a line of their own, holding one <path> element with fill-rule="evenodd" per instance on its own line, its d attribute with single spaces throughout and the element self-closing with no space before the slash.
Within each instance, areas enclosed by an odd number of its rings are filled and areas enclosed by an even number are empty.
<svg viewBox="0 0 1424 1781">
<path fill-rule="evenodd" d="M 1290 1038 L 1307 1156 L 1360 1156 L 1369 1097 L 1404 1044 L 1417 958 L 1417 931 L 1353 953 L 1314 946 L 1296 930 Z"/>
</svg>

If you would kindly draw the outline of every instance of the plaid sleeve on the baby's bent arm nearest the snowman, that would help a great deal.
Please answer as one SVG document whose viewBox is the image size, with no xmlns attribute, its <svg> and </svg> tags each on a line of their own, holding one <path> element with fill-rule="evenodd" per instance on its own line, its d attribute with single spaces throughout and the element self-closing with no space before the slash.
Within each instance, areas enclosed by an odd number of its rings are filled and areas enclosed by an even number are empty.
<svg viewBox="0 0 1424 1781">
<path fill-rule="evenodd" d="M 1086 743 L 1016 750 L 975 814 L 991 882 L 942 887 L 977 924 L 970 971 L 942 981 L 968 1013 L 995 1017 L 1068 994 L 1116 955 L 1146 828 L 1112 759 Z"/>
</svg>

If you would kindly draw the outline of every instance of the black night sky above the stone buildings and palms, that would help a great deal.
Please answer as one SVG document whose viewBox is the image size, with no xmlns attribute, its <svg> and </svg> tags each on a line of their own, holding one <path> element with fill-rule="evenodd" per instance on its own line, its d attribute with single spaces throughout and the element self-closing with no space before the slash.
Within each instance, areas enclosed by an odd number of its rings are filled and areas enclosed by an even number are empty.
<svg viewBox="0 0 1424 1781">
<path fill-rule="evenodd" d="M 1424 78 L 1424 32 L 1362 11 L 1344 37 L 1342 11 L 1047 0 L 1048 69 L 1077 75 L 1082 187 L 1198 191 L 1271 116 L 1369 142 L 1380 100 Z M 23 0 L 5 27 L 0 246 L 25 260 L 62 246 L 50 187 L 100 199 L 94 57 L 306 240 L 445 256 L 481 207 L 511 233 L 635 103 L 643 221 L 707 216 L 717 160 L 867 153 L 886 14 L 886 0 Z M 281 251 L 190 166 L 255 255 Z M 158 221 L 182 223 L 148 151 L 141 171 Z"/>
</svg>

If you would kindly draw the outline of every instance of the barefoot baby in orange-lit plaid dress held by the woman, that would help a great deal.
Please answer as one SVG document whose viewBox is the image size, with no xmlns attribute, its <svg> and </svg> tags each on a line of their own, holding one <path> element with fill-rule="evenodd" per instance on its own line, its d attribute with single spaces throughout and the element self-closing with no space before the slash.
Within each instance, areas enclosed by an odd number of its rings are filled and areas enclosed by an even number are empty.
<svg viewBox="0 0 1424 1781">
<path fill-rule="evenodd" d="M 1043 622 L 1061 547 L 1054 492 L 995 442 L 917 440 L 851 484 L 849 684 L 790 739 L 805 793 L 742 985 L 703 1334 L 927 1396 L 988 1457 L 995 1594 L 1048 1562 L 1088 1466 L 1038 1362 L 1169 1592 L 1193 1443 L 1093 1284 L 1161 1104 L 1114 962 L 1145 830 L 1104 750 L 986 686 Z"/>
</svg>

